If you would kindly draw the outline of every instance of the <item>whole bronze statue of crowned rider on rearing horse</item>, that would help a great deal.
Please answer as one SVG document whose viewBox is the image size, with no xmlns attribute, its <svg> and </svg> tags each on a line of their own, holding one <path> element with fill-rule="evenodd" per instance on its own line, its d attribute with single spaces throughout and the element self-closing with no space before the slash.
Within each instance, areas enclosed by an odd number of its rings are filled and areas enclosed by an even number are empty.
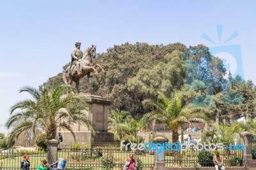
<svg viewBox="0 0 256 170">
<path fill-rule="evenodd" d="M 96 45 L 91 45 L 84 51 L 80 50 L 81 42 L 76 42 L 76 49 L 73 49 L 71 52 L 71 65 L 68 66 L 67 70 L 63 73 L 63 81 L 68 86 L 72 85 L 74 81 L 76 83 L 76 89 L 79 92 L 79 79 L 83 78 L 84 75 L 87 75 L 90 78 L 90 72 L 94 72 L 95 75 L 98 75 L 98 71 L 95 69 L 100 68 L 102 72 L 105 72 L 104 69 L 99 65 L 92 65 L 92 59 L 96 57 Z"/>
</svg>

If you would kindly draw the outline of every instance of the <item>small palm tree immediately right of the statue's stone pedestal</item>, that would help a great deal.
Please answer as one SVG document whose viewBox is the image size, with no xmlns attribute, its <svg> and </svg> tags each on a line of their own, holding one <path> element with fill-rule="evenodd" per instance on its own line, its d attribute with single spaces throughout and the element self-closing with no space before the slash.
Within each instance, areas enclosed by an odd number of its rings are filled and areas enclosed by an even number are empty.
<svg viewBox="0 0 256 170">
<path fill-rule="evenodd" d="M 108 129 L 110 132 L 116 133 L 121 140 L 124 135 L 129 133 L 127 123 L 132 119 L 131 113 L 127 111 L 119 111 L 118 109 L 110 112 L 108 119 Z"/>
</svg>

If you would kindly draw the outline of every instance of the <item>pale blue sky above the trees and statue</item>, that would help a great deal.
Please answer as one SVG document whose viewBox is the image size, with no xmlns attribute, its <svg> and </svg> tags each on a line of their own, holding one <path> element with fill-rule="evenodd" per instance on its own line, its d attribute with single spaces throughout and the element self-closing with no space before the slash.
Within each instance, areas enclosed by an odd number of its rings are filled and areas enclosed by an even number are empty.
<svg viewBox="0 0 256 170">
<path fill-rule="evenodd" d="M 216 47 L 237 31 L 225 45 L 241 47 L 244 78 L 256 83 L 255 7 L 256 1 L 0 1 L 0 130 L 10 107 L 28 97 L 18 90 L 62 72 L 77 41 L 100 53 L 125 42 Z"/>
</svg>

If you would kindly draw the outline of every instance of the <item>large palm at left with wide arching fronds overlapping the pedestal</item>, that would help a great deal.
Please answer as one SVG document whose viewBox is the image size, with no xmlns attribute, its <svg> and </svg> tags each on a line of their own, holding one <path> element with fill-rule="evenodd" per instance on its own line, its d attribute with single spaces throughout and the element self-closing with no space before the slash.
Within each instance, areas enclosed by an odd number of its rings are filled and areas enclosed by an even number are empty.
<svg viewBox="0 0 256 170">
<path fill-rule="evenodd" d="M 46 132 L 47 140 L 54 139 L 57 127 L 69 130 L 76 141 L 72 130 L 74 124 L 85 125 L 94 134 L 92 122 L 83 112 L 87 109 L 86 102 L 76 93 L 67 94 L 69 90 L 67 86 L 44 88 L 42 91 L 31 87 L 21 88 L 20 93 L 28 92 L 33 99 L 22 100 L 11 107 L 10 118 L 6 122 L 8 129 L 12 127 L 8 141 L 24 130 L 32 129 L 35 133 L 36 128 Z"/>
</svg>

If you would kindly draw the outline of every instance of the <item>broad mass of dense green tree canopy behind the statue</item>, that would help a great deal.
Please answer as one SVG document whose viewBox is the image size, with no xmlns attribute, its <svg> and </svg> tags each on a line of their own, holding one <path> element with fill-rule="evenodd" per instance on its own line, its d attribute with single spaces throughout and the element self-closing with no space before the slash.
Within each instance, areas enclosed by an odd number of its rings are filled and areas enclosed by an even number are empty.
<svg viewBox="0 0 256 170">
<path fill-rule="evenodd" d="M 110 109 L 131 112 L 135 118 L 153 109 L 143 107 L 142 101 L 156 100 L 156 91 L 169 95 L 177 89 L 183 91 L 183 104 L 192 102 L 194 107 L 212 107 L 213 115 L 231 115 L 243 111 L 245 105 L 251 112 L 256 109 L 254 84 L 241 77 L 224 79 L 223 62 L 204 45 L 124 43 L 99 54 L 93 63 L 102 65 L 106 72 L 81 79 L 81 92 L 109 98 L 113 101 Z M 41 88 L 62 83 L 59 73 Z"/>
</svg>

